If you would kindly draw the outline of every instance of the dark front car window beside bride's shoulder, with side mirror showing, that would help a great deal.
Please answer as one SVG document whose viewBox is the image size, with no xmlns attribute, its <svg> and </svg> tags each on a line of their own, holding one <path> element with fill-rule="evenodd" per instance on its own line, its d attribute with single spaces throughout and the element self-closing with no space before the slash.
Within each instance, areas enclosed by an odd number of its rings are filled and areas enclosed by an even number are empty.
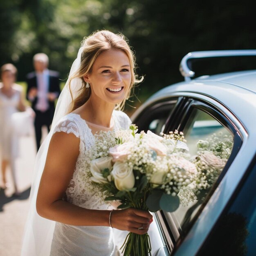
<svg viewBox="0 0 256 256">
<path fill-rule="evenodd" d="M 147 108 L 137 119 L 135 124 L 138 126 L 139 132 L 144 130 L 151 130 L 155 134 L 159 135 L 164 130 L 166 120 L 173 111 L 177 99 L 170 101 L 164 101 L 155 104 L 154 106 Z"/>
</svg>

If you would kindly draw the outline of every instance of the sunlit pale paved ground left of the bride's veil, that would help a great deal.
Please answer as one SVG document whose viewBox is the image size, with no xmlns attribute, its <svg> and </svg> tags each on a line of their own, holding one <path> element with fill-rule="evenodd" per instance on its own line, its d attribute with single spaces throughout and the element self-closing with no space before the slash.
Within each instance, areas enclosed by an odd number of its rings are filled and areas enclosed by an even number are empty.
<svg viewBox="0 0 256 256">
<path fill-rule="evenodd" d="M 44 131 L 45 133 L 46 131 Z M 21 195 L 18 198 L 12 197 L 13 187 L 5 191 L 0 189 L 0 256 L 20 255 L 35 157 L 36 142 L 34 138 L 21 138 L 20 157 L 16 161 L 18 189 Z M 7 170 L 7 179 L 11 180 L 9 170 Z"/>
</svg>

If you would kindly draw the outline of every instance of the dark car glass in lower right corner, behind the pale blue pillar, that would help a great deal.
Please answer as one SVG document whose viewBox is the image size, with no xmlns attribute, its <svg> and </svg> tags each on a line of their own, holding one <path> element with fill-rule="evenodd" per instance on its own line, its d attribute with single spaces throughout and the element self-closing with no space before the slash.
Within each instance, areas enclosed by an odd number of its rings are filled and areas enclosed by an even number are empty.
<svg viewBox="0 0 256 256">
<path fill-rule="evenodd" d="M 200 256 L 250 256 L 256 252 L 256 165 L 222 214 Z M 218 246 L 216 246 L 218 245 Z"/>
</svg>

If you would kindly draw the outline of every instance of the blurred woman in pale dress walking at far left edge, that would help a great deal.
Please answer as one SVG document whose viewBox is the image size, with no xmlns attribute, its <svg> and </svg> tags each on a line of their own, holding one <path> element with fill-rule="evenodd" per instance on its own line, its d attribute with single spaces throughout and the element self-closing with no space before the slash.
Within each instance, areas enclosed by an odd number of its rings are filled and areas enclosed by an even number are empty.
<svg viewBox="0 0 256 256">
<path fill-rule="evenodd" d="M 0 159 L 2 188 L 10 186 L 6 179 L 6 169 L 9 165 L 13 176 L 14 195 L 19 195 L 15 173 L 18 137 L 13 128 L 12 115 L 18 111 L 25 111 L 25 103 L 22 89 L 15 83 L 16 74 L 16 67 L 10 63 L 4 64 L 0 69 Z"/>
</svg>

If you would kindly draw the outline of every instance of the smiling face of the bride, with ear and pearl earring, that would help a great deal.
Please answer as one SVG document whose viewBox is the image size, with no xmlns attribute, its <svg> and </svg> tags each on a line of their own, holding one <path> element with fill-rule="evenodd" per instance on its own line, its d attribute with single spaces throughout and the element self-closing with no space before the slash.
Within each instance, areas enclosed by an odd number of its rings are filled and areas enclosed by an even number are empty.
<svg viewBox="0 0 256 256">
<path fill-rule="evenodd" d="M 84 80 L 90 83 L 92 99 L 120 103 L 126 97 L 131 83 L 128 56 L 118 49 L 102 52 L 94 61 L 92 72 L 84 76 Z"/>
</svg>

